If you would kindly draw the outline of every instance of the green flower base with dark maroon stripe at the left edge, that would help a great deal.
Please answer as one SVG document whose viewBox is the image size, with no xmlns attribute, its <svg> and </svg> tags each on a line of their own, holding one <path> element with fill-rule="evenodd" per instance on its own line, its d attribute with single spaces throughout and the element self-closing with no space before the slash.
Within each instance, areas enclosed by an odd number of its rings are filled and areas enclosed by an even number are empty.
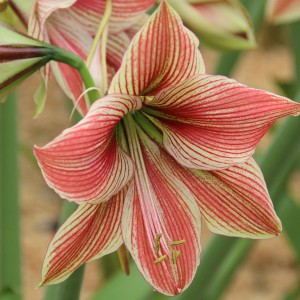
<svg viewBox="0 0 300 300">
<path fill-rule="evenodd" d="M 51 59 L 43 42 L 26 37 L 0 23 L 0 102 L 24 79 Z"/>
</svg>

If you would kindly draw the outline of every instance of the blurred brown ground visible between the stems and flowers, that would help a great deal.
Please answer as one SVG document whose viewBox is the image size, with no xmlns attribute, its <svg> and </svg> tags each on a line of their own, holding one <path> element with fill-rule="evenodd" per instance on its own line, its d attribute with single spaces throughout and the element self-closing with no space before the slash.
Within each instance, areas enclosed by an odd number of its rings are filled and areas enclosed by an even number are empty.
<svg viewBox="0 0 300 300">
<path fill-rule="evenodd" d="M 205 58 L 213 61 L 215 55 L 206 53 Z M 272 80 L 292 77 L 290 54 L 283 46 L 253 51 L 242 59 L 234 76 L 250 86 L 279 92 Z M 31 95 L 36 79 L 23 84 L 19 93 L 20 139 L 29 149 L 33 144 L 48 142 L 68 126 L 69 119 L 62 94 L 54 82 L 44 113 L 38 119 L 32 118 Z M 269 136 L 264 139 L 261 148 L 266 147 L 269 139 Z M 58 219 L 62 201 L 47 187 L 39 170 L 24 153 L 20 160 L 24 295 L 26 300 L 40 300 L 44 289 L 34 287 L 40 279 L 43 257 L 53 234 L 51 228 Z M 89 299 L 101 283 L 97 267 L 95 262 L 88 264 L 83 300 Z M 259 241 L 240 267 L 224 299 L 279 300 L 296 286 L 297 280 L 295 258 L 284 236 Z"/>
</svg>

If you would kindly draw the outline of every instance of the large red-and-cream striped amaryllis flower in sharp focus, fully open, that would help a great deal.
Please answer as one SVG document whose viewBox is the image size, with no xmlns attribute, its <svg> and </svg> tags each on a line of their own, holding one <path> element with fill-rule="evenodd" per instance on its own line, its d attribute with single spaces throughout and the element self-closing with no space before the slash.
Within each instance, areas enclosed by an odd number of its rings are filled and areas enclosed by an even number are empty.
<svg viewBox="0 0 300 300">
<path fill-rule="evenodd" d="M 200 262 L 201 216 L 229 236 L 280 233 L 251 155 L 300 104 L 205 74 L 198 46 L 163 1 L 133 38 L 108 95 L 35 148 L 49 186 L 79 204 L 50 243 L 41 284 L 125 243 L 153 288 L 176 295 Z"/>
</svg>

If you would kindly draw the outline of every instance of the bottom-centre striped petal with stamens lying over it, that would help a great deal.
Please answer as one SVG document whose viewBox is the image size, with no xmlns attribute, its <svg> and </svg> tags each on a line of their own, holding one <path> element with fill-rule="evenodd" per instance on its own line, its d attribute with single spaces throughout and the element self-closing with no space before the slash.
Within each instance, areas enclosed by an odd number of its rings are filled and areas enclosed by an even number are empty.
<svg viewBox="0 0 300 300">
<path fill-rule="evenodd" d="M 143 277 L 166 295 L 191 283 L 200 261 L 200 211 L 176 176 L 176 163 L 145 136 L 134 150 L 135 180 L 126 196 L 124 242 Z M 140 152 L 140 157 L 138 157 Z"/>
</svg>

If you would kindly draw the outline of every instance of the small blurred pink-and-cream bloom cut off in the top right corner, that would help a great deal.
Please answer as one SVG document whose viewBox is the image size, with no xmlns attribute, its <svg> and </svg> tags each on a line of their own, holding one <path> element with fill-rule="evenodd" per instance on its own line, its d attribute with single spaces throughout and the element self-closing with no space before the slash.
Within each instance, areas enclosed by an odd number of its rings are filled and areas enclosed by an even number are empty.
<svg viewBox="0 0 300 300">
<path fill-rule="evenodd" d="M 267 17 L 272 23 L 283 24 L 300 19 L 300 0 L 269 0 Z"/>
</svg>

